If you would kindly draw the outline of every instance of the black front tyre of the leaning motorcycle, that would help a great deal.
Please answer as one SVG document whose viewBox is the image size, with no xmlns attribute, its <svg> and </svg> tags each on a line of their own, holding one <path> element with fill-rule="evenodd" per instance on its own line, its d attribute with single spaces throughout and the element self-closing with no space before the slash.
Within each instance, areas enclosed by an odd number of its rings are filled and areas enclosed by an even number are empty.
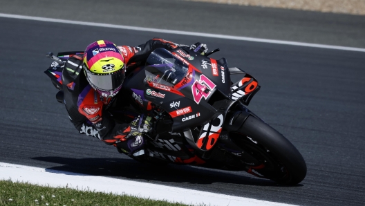
<svg viewBox="0 0 365 206">
<path fill-rule="evenodd" d="M 285 185 L 297 185 L 306 177 L 307 166 L 301 153 L 262 120 L 249 115 L 241 127 L 230 131 L 230 138 L 243 149 L 241 162 L 250 174 Z"/>
</svg>

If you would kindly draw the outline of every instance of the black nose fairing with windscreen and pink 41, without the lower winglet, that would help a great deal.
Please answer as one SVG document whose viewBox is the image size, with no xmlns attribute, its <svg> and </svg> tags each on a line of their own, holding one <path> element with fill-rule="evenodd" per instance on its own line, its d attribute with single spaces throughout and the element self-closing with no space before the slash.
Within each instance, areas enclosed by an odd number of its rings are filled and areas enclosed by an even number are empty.
<svg viewBox="0 0 365 206">
<path fill-rule="evenodd" d="M 212 65 L 211 59 L 196 53 L 189 55 L 182 48 L 172 50 L 171 53 L 159 48 L 147 59 L 144 97 L 171 115 L 174 131 L 209 122 L 219 115 L 217 112 L 220 109 L 216 109 L 213 103 L 217 98 L 227 99 L 226 95 L 230 91 L 230 75 L 224 67 L 227 65 L 215 62 L 213 66 L 216 73 L 212 73 L 212 68 L 209 71 L 200 68 L 203 60 L 207 66 Z M 225 77 L 223 80 L 222 73 Z M 214 101 L 209 101 L 212 98 Z"/>
</svg>

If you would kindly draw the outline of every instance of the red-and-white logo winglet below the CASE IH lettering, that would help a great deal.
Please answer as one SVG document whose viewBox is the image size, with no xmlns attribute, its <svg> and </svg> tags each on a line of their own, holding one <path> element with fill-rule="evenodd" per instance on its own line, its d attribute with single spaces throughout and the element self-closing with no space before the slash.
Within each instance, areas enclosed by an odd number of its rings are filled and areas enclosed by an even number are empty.
<svg viewBox="0 0 365 206">
<path fill-rule="evenodd" d="M 214 125 L 217 123 L 218 125 Z M 214 144 L 216 144 L 219 135 L 221 134 L 222 126 L 223 126 L 223 115 L 221 114 L 211 122 L 204 125 L 203 133 L 201 133 L 201 135 L 199 136 L 198 142 L 196 142 L 196 146 L 198 146 L 200 149 L 204 149 L 203 147 L 205 146 L 205 150 L 212 149 Z M 209 133 L 208 136 L 207 133 Z M 205 140 L 206 138 L 207 140 Z"/>
</svg>

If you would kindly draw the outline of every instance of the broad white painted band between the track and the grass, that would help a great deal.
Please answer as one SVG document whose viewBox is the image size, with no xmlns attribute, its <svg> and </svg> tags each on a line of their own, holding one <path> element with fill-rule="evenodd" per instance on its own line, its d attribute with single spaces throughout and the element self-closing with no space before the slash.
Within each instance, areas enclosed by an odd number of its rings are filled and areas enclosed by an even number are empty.
<svg viewBox="0 0 365 206">
<path fill-rule="evenodd" d="M 251 198 L 214 194 L 206 191 L 183 189 L 155 185 L 131 180 L 120 180 L 102 176 L 88 176 L 65 171 L 56 171 L 39 167 L 28 167 L 0 162 L 0 180 L 29 182 L 35 185 L 50 187 L 66 187 L 91 191 L 102 191 L 113 194 L 129 194 L 141 198 L 155 200 L 167 200 L 169 202 L 180 202 L 185 204 L 199 205 L 276 205 L 288 206 L 288 204 L 274 203 Z M 244 185 L 242 187 L 245 187 Z"/>
</svg>

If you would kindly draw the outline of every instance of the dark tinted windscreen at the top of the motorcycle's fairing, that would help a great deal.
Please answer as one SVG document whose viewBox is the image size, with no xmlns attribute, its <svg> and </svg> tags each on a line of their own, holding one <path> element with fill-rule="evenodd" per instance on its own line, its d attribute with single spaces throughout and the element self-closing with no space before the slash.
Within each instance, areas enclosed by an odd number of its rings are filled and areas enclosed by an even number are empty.
<svg viewBox="0 0 365 206">
<path fill-rule="evenodd" d="M 185 77 L 188 66 L 165 48 L 157 48 L 147 58 L 144 69 L 145 81 L 174 86 Z"/>
</svg>

